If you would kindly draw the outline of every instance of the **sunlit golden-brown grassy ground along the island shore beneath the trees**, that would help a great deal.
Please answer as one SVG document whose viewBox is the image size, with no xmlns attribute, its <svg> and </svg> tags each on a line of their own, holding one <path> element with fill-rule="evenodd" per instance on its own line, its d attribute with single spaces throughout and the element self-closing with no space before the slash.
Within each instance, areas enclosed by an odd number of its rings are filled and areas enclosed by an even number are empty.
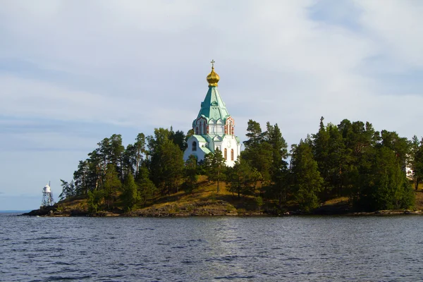
<svg viewBox="0 0 423 282">
<path fill-rule="evenodd" d="M 423 209 L 423 185 L 415 192 L 415 210 Z M 116 203 L 116 206 L 120 206 Z M 87 200 L 76 197 L 59 202 L 59 211 L 62 214 L 87 213 Z M 271 204 L 264 203 L 259 209 L 254 197 L 238 199 L 226 190 L 226 183 L 220 183 L 220 192 L 216 192 L 216 183 L 208 183 L 207 178 L 200 176 L 197 188 L 191 193 L 180 191 L 170 196 L 158 197 L 154 204 L 139 208 L 127 213 L 130 216 L 174 216 L 174 215 L 237 215 L 259 214 L 263 209 L 271 209 Z M 318 210 L 320 214 L 342 214 L 350 209 L 347 197 L 338 197 L 324 202 Z M 295 210 L 295 207 L 292 207 Z M 116 209 L 115 214 L 121 214 L 121 209 Z M 112 213 L 106 213 L 106 215 Z"/>
</svg>

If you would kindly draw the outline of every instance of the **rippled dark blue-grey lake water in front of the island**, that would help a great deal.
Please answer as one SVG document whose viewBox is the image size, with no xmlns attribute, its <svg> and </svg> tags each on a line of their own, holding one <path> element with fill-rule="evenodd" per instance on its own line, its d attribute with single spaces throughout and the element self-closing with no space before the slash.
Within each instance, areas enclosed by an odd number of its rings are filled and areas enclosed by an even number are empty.
<svg viewBox="0 0 423 282">
<path fill-rule="evenodd" d="M 422 216 L 0 214 L 0 281 L 423 281 Z"/>
</svg>

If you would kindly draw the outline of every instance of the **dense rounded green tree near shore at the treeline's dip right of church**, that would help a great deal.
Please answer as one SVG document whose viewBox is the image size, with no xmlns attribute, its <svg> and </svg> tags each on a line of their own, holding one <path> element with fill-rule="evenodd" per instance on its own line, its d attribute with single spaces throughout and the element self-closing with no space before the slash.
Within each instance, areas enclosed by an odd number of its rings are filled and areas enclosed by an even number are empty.
<svg viewBox="0 0 423 282">
<path fill-rule="evenodd" d="M 300 209 L 309 212 L 319 204 L 317 192 L 323 184 L 317 161 L 314 161 L 311 147 L 300 141 L 293 146 L 291 173 L 293 173 L 293 190 Z"/>
</svg>

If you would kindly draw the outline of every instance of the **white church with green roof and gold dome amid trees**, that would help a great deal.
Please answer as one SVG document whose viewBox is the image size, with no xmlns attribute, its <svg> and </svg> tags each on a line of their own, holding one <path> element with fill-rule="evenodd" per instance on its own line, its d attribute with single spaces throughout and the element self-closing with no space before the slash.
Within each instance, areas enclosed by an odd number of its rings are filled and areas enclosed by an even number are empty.
<svg viewBox="0 0 423 282">
<path fill-rule="evenodd" d="M 198 161 L 204 159 L 209 153 L 214 153 L 215 149 L 222 152 L 226 166 L 233 166 L 240 156 L 240 139 L 235 136 L 235 121 L 226 109 L 221 95 L 217 90 L 219 75 L 214 71 L 214 61 L 212 72 L 207 75 L 209 91 L 207 91 L 197 118 L 192 122 L 191 135 L 188 140 L 188 148 L 183 154 L 184 161 L 190 155 L 195 155 Z"/>
</svg>

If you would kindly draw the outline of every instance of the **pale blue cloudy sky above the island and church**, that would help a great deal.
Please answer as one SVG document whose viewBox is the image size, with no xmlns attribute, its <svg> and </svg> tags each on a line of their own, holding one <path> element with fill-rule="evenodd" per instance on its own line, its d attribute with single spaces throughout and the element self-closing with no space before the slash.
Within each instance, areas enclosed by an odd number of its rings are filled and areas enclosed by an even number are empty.
<svg viewBox="0 0 423 282">
<path fill-rule="evenodd" d="M 114 133 L 190 129 L 214 59 L 219 92 L 289 145 L 324 123 L 423 135 L 423 1 L 2 0 L 0 210 L 37 209 L 51 181 Z"/>
</svg>

